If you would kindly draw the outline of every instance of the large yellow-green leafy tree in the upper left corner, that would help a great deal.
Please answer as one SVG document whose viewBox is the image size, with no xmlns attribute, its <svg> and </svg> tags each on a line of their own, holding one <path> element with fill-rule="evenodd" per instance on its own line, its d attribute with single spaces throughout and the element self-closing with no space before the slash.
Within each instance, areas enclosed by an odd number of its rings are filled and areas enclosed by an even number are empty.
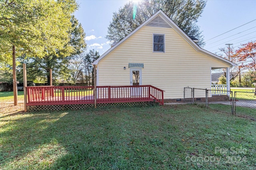
<svg viewBox="0 0 256 170">
<path fill-rule="evenodd" d="M 0 61 L 12 59 L 14 105 L 17 105 L 16 56 L 44 57 L 63 49 L 75 0 L 1 0 Z M 12 51 L 12 54 L 10 53 Z"/>
</svg>

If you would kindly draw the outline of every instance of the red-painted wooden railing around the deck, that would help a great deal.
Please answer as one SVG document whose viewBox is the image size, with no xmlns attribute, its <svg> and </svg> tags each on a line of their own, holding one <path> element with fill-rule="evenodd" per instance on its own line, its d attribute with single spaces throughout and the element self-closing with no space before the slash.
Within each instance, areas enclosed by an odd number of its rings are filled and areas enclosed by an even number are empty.
<svg viewBox="0 0 256 170">
<path fill-rule="evenodd" d="M 28 86 L 27 105 L 94 104 L 94 86 Z M 97 103 L 164 104 L 164 91 L 154 86 L 97 86 Z"/>
</svg>

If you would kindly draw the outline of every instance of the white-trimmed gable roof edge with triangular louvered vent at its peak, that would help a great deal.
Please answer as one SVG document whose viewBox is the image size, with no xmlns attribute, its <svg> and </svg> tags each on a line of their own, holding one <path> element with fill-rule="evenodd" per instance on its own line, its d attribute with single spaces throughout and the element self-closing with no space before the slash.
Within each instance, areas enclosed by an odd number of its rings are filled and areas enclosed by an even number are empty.
<svg viewBox="0 0 256 170">
<path fill-rule="evenodd" d="M 134 29 L 134 31 L 132 31 L 131 33 L 129 33 L 126 37 L 124 37 L 121 41 L 119 41 L 118 43 L 114 44 L 113 47 L 111 47 L 110 49 L 108 49 L 108 51 L 106 51 L 103 55 L 101 55 L 96 61 L 94 61 L 92 64 L 97 65 L 99 63 L 100 60 L 102 60 L 104 57 L 106 57 L 111 51 L 113 51 L 114 49 L 116 49 L 116 47 L 118 47 L 120 44 L 122 44 L 124 41 L 126 41 L 126 39 L 128 39 L 129 37 L 131 37 L 134 33 L 136 33 L 139 29 L 141 29 L 144 25 L 150 25 L 150 26 L 154 26 L 154 27 L 171 27 L 173 28 L 182 38 L 184 38 L 196 51 L 198 51 L 199 53 L 202 53 L 208 57 L 211 57 L 213 59 L 216 59 L 222 63 L 228 64 L 229 66 L 236 66 L 237 64 L 232 63 L 231 61 L 228 61 L 226 59 L 223 59 L 222 57 L 219 57 L 218 55 L 215 55 L 213 53 L 210 53 L 209 51 L 206 51 L 204 49 L 202 49 L 201 47 L 199 47 L 194 41 L 193 39 L 186 35 L 186 33 L 184 31 L 182 31 L 182 29 L 180 29 L 180 27 L 178 27 L 178 25 L 176 25 L 176 23 L 174 23 L 174 21 L 172 21 L 162 10 L 158 10 L 158 12 L 156 12 L 154 15 L 152 15 L 148 20 L 146 20 L 144 23 L 142 23 L 140 26 L 138 26 L 136 29 Z M 215 69 L 215 68 L 214 68 Z"/>
</svg>

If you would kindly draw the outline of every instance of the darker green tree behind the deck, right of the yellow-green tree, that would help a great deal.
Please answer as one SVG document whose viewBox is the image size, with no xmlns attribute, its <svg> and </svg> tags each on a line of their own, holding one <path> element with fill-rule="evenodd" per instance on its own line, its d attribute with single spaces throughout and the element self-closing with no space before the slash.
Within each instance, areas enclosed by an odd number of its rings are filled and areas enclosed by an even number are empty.
<svg viewBox="0 0 256 170">
<path fill-rule="evenodd" d="M 54 78 L 61 78 L 63 81 L 74 83 L 69 63 L 72 58 L 84 52 L 86 43 L 82 25 L 74 16 L 71 17 L 70 22 L 72 25 L 68 30 L 69 41 L 63 47 L 48 51 L 43 58 L 35 56 L 26 61 L 28 72 L 32 73 L 30 76 L 32 80 L 40 77 L 41 80 L 45 80 L 50 85 L 50 69 L 52 69 Z"/>
</svg>

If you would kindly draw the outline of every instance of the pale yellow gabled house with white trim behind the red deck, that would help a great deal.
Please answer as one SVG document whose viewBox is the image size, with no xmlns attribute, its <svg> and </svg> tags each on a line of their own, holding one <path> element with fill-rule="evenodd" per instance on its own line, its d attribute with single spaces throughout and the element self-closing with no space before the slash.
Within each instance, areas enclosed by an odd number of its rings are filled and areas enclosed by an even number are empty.
<svg viewBox="0 0 256 170">
<path fill-rule="evenodd" d="M 164 99 L 183 98 L 187 86 L 211 89 L 212 70 L 236 65 L 200 48 L 162 10 L 93 64 L 97 86 L 152 85 Z"/>
</svg>

